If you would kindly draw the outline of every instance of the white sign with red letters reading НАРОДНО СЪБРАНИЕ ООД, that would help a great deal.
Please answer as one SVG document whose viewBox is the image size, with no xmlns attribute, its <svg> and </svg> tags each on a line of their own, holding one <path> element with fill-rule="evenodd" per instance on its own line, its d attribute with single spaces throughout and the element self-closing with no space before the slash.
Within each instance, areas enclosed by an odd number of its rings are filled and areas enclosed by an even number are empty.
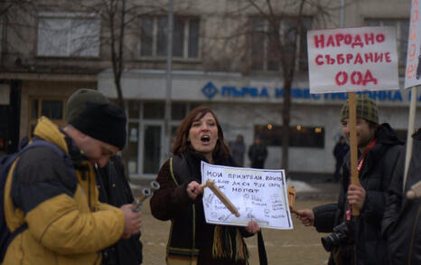
<svg viewBox="0 0 421 265">
<path fill-rule="evenodd" d="M 394 27 L 313 30 L 307 43 L 311 93 L 398 90 Z"/>
</svg>

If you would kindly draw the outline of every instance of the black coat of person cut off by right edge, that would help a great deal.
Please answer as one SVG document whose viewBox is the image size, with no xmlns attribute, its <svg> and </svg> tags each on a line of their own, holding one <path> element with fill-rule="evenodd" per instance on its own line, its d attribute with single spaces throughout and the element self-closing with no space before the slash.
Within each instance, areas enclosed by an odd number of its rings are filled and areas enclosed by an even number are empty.
<svg viewBox="0 0 421 265">
<path fill-rule="evenodd" d="M 408 200 L 405 195 L 412 185 L 421 181 L 421 129 L 413 138 L 405 193 L 402 194 L 406 153 L 403 151 L 390 183 L 382 222 L 383 235 L 388 240 L 390 263 L 393 265 L 421 264 L 421 198 Z"/>
</svg>

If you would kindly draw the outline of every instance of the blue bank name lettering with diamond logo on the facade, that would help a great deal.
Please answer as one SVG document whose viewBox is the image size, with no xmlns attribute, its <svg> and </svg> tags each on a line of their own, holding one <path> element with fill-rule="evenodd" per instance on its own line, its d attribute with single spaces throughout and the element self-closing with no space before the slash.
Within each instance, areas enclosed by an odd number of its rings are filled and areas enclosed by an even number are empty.
<svg viewBox="0 0 421 265">
<path fill-rule="evenodd" d="M 209 81 L 201 89 L 201 92 L 208 98 L 212 99 L 216 94 L 220 93 L 222 98 L 257 98 L 257 99 L 280 99 L 285 96 L 284 88 L 276 88 L 275 90 L 267 90 L 266 87 L 235 87 L 221 86 L 220 90 Z M 270 93 L 272 92 L 272 94 Z M 379 99 L 380 101 L 403 101 L 402 94 L 399 90 L 379 90 L 379 91 L 363 91 L 357 94 L 368 95 L 371 99 Z M 326 93 L 326 94 L 310 94 L 310 89 L 293 88 L 291 89 L 291 97 L 293 99 L 348 99 L 348 93 Z M 410 93 L 409 93 L 410 98 Z M 421 101 L 421 95 L 417 99 Z"/>
</svg>

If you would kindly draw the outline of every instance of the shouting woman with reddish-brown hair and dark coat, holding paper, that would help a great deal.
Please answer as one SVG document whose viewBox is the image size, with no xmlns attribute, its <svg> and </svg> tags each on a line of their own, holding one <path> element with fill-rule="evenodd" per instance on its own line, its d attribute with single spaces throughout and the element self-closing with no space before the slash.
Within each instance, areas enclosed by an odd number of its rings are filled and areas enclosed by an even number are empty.
<svg viewBox="0 0 421 265">
<path fill-rule="evenodd" d="M 161 188 L 150 200 L 155 218 L 172 221 L 167 264 L 248 264 L 243 238 L 260 230 L 257 222 L 248 222 L 247 227 L 216 225 L 204 216 L 201 161 L 235 166 L 220 122 L 211 109 L 198 107 L 182 120 L 176 135 L 173 157 L 156 177 Z"/>
</svg>

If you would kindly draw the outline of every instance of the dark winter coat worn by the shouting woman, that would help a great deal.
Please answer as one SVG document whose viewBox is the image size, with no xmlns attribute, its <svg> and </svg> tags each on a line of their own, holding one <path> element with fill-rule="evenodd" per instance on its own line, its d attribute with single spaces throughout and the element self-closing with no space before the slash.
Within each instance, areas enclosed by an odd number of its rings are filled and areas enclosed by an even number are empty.
<svg viewBox="0 0 421 265">
<path fill-rule="evenodd" d="M 167 255 L 177 254 L 176 251 L 179 254 L 183 251 L 185 254 L 187 252 L 193 252 L 192 249 L 197 249 L 199 250 L 197 264 L 248 264 L 247 260 L 213 259 L 211 252 L 216 225 L 205 221 L 201 197 L 198 197 L 193 202 L 186 192 L 187 185 L 191 181 L 194 180 L 201 183 L 201 160 L 206 160 L 201 155 L 189 151 L 186 151 L 179 157 L 184 157 L 177 160 L 186 163 L 185 165 L 188 167 L 189 174 L 183 175 L 182 178 L 184 181 L 178 183 L 181 180 L 181 176 L 177 176 L 176 170 L 174 170 L 173 177 L 170 170 L 170 163 L 172 162 L 170 160 L 166 161 L 156 177 L 156 181 L 161 187 L 158 191 L 154 192 L 150 200 L 151 213 L 155 218 L 162 221 L 172 221 L 170 238 L 167 245 Z M 215 156 L 214 163 L 215 165 L 222 166 L 235 165 L 234 160 L 230 156 L 228 158 Z M 192 208 L 194 208 L 194 211 Z M 193 232 L 192 228 L 194 228 Z M 240 228 L 239 232 L 241 232 L 243 237 L 252 236 L 252 234 L 246 232 L 243 228 Z"/>
</svg>

